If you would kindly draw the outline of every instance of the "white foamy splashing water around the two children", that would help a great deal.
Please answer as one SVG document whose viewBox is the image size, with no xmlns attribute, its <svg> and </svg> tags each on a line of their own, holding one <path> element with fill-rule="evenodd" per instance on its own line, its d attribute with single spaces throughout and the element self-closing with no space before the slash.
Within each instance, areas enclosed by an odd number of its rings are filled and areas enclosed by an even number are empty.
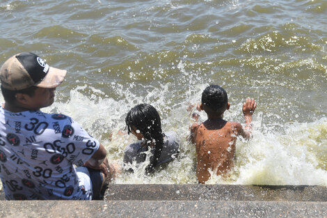
<svg viewBox="0 0 327 218">
<path fill-rule="evenodd" d="M 200 89 L 205 87 L 201 85 Z M 154 88 L 144 98 L 130 91 L 125 91 L 127 99 L 99 97 L 102 91 L 91 88 L 92 94 L 83 95 L 86 86 L 79 86 L 70 91 L 70 100 L 57 100 L 45 112 L 61 112 L 72 116 L 90 134 L 97 137 L 109 152 L 109 160 L 122 165 L 124 148 L 136 141 L 133 135 L 120 134 L 125 129 L 125 115 L 134 104 L 149 102 L 159 111 L 163 132 L 175 131 L 180 143 L 180 156 L 173 162 L 158 169 L 153 175 L 145 176 L 145 167 L 149 159 L 139 166 L 128 166 L 134 173 L 122 171 L 116 183 L 161 183 L 189 184 L 197 183 L 196 151 L 188 141 L 191 118 L 186 111 L 189 102 L 196 102 L 200 93 L 188 95 L 184 102 L 175 104 L 172 109 L 162 107 L 167 101 L 169 85 Z M 118 90 L 118 92 L 124 92 Z M 105 95 L 104 95 L 105 96 Z M 154 96 L 160 96 L 152 101 Z M 237 105 L 241 107 L 241 103 Z M 237 110 L 231 109 L 225 114 L 227 120 L 239 116 Z M 327 185 L 327 118 L 313 123 L 285 123 L 282 131 L 271 130 L 262 123 L 264 114 L 256 111 L 253 117 L 253 138 L 249 141 L 238 139 L 234 157 L 234 169 L 228 176 L 212 177 L 206 184 L 243 184 L 243 185 Z M 200 119 L 205 120 L 200 112 Z M 279 129 L 281 130 L 281 129 Z"/>
</svg>

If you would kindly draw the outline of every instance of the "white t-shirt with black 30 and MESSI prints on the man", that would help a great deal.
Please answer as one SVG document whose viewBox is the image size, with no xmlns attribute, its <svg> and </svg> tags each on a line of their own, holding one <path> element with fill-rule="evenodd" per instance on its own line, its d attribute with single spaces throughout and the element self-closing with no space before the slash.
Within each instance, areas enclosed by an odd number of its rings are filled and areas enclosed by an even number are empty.
<svg viewBox="0 0 327 218">
<path fill-rule="evenodd" d="M 90 199 L 77 176 L 99 148 L 69 116 L 0 107 L 0 178 L 7 200 Z"/>
</svg>

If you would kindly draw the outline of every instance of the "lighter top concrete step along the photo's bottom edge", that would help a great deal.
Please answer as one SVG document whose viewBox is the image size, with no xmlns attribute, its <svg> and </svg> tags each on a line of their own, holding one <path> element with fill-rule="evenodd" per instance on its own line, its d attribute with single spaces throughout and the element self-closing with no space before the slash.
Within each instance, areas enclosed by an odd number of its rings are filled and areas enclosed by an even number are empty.
<svg viewBox="0 0 327 218">
<path fill-rule="evenodd" d="M 327 203 L 280 201 L 0 201 L 0 217 L 326 217 Z"/>
</svg>

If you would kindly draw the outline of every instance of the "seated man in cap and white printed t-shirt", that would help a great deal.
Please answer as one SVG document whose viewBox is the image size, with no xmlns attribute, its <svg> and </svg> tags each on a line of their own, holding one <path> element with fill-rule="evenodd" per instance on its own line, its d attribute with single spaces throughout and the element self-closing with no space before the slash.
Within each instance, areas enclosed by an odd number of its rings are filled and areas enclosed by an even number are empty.
<svg viewBox="0 0 327 218">
<path fill-rule="evenodd" d="M 69 116 L 40 111 L 54 102 L 65 75 L 27 52 L 0 69 L 0 178 L 7 200 L 99 199 L 105 178 L 114 176 L 97 139 Z"/>
</svg>

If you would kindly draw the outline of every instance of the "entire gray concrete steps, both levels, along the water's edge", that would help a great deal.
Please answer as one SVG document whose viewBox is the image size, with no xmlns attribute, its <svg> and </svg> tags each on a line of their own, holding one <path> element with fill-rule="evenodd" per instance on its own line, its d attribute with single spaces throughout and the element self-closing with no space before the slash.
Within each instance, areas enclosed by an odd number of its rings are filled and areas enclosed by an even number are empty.
<svg viewBox="0 0 327 218">
<path fill-rule="evenodd" d="M 105 201 L 0 201 L 0 208 L 0 217 L 327 217 L 327 188 L 113 184 Z"/>
</svg>

